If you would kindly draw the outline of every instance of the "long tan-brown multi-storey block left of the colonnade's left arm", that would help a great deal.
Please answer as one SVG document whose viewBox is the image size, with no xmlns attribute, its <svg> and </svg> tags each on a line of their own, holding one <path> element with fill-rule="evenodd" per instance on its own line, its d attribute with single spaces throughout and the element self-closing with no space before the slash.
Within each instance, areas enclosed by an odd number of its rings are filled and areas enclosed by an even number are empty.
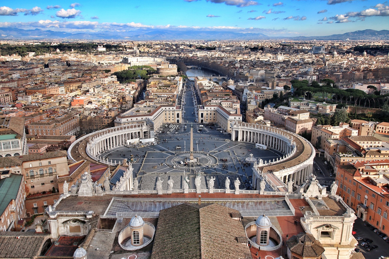
<svg viewBox="0 0 389 259">
<path fill-rule="evenodd" d="M 30 135 L 77 135 L 79 131 L 80 119 L 77 114 L 59 115 L 28 125 Z"/>
</svg>

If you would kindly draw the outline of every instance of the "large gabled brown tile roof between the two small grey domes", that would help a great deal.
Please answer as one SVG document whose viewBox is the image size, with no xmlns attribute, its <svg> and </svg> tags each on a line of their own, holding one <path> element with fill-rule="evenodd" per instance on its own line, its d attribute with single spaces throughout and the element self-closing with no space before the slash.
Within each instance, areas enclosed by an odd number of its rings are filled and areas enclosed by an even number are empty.
<svg viewBox="0 0 389 259">
<path fill-rule="evenodd" d="M 251 259 L 249 248 L 237 242 L 245 236 L 237 210 L 219 204 L 181 204 L 159 212 L 151 258 Z"/>
</svg>

